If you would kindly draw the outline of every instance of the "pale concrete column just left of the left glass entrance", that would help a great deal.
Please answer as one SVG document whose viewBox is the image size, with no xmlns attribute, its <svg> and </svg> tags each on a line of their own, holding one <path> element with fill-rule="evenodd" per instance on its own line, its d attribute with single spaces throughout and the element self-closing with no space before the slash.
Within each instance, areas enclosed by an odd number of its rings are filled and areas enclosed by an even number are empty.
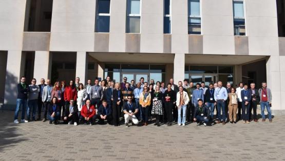
<svg viewBox="0 0 285 161">
<path fill-rule="evenodd" d="M 75 77 L 80 78 L 80 82 L 84 85 L 87 81 L 87 73 L 88 73 L 88 61 L 87 61 L 87 53 L 85 51 L 77 52 L 76 59 L 76 75 Z M 75 79 L 75 78 L 74 78 Z"/>
</svg>

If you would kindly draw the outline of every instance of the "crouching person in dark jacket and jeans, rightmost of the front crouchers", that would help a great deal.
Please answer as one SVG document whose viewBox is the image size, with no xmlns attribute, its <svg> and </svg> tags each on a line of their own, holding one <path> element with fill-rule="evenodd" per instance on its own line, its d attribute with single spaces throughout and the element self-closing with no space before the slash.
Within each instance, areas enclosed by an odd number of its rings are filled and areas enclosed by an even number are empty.
<svg viewBox="0 0 285 161">
<path fill-rule="evenodd" d="M 197 122 L 197 126 L 199 126 L 200 123 L 203 123 L 204 126 L 207 126 L 207 123 L 209 122 L 209 116 L 210 110 L 206 105 L 203 104 L 203 100 L 199 99 L 197 108 L 195 109 L 194 113 L 194 121 Z"/>
</svg>

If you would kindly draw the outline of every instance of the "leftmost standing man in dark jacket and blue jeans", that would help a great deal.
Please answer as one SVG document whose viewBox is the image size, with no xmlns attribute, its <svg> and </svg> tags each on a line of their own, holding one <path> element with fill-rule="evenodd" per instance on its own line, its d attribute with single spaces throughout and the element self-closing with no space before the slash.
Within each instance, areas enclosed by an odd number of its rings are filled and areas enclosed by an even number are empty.
<svg viewBox="0 0 285 161">
<path fill-rule="evenodd" d="M 18 114 L 20 112 L 21 106 L 22 106 L 21 122 L 22 123 L 28 122 L 27 120 L 25 120 L 25 112 L 28 102 L 29 86 L 25 82 L 26 82 L 26 77 L 22 76 L 21 83 L 17 85 L 18 94 L 17 94 L 16 110 L 14 114 L 14 123 L 19 123 Z"/>
</svg>

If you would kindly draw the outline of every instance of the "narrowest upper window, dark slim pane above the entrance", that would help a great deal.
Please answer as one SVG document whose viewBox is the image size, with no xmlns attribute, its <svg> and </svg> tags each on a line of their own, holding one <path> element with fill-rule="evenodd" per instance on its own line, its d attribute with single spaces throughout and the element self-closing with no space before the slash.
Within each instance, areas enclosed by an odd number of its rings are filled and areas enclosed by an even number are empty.
<svg viewBox="0 0 285 161">
<path fill-rule="evenodd" d="M 171 33 L 171 2 L 164 0 L 163 33 Z"/>
</svg>

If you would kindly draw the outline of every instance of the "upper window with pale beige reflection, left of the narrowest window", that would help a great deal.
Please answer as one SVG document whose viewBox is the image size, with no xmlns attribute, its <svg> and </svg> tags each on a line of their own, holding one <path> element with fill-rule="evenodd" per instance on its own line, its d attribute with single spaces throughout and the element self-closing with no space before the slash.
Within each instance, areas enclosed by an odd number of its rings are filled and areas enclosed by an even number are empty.
<svg viewBox="0 0 285 161">
<path fill-rule="evenodd" d="M 127 33 L 140 33 L 141 32 L 141 1 L 128 0 L 127 1 Z"/>
</svg>

